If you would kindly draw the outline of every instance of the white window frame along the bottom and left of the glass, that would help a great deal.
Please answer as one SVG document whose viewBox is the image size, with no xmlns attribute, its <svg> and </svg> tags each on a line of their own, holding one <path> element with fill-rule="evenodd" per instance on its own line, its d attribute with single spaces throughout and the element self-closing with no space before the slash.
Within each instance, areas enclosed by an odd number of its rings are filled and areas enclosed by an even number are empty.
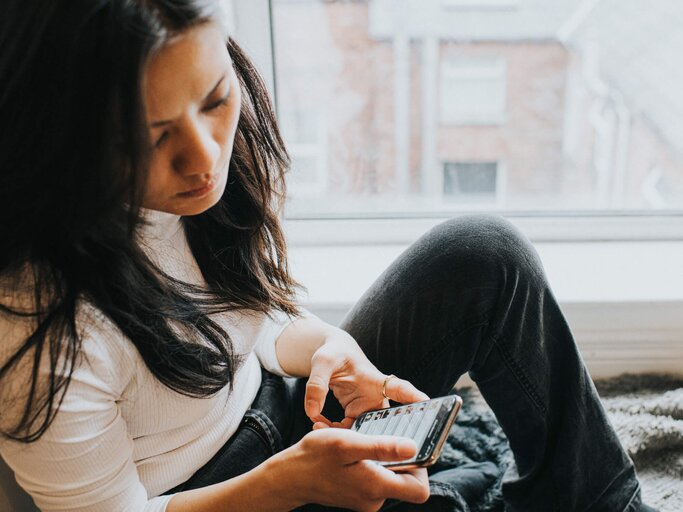
<svg viewBox="0 0 683 512">
<path fill-rule="evenodd" d="M 233 0 L 233 8 L 235 38 L 263 76 L 271 98 L 276 98 L 272 0 Z M 283 224 L 292 245 L 410 243 L 431 226 L 465 213 L 344 218 L 283 215 Z M 534 242 L 683 240 L 683 210 L 491 213 L 508 218 Z"/>
</svg>

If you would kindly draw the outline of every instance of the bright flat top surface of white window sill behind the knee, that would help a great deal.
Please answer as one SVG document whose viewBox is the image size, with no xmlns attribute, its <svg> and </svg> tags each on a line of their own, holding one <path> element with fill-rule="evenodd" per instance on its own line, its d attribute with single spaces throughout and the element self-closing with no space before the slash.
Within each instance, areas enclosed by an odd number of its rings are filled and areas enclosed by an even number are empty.
<svg viewBox="0 0 683 512">
<path fill-rule="evenodd" d="M 683 242 L 535 243 L 561 303 L 683 302 Z M 406 245 L 290 247 L 314 303 L 354 303 Z M 681 311 L 683 317 L 683 311 Z"/>
</svg>

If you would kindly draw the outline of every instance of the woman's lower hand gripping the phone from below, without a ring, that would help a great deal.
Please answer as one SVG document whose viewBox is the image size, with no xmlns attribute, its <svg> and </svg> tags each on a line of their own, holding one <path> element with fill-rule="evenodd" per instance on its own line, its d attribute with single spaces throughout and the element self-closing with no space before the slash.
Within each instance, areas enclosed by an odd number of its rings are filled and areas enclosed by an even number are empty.
<svg viewBox="0 0 683 512">
<path fill-rule="evenodd" d="M 265 474 L 295 506 L 319 503 L 375 512 L 387 498 L 411 503 L 429 498 L 426 469 L 394 472 L 372 462 L 407 459 L 416 450 L 409 439 L 328 428 L 309 432 L 271 457 Z"/>
</svg>

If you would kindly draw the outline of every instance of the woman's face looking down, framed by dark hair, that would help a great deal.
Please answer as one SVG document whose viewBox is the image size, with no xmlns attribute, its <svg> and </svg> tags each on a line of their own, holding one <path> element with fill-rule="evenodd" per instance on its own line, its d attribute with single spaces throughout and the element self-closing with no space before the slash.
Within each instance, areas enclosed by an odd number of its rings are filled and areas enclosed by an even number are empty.
<svg viewBox="0 0 683 512">
<path fill-rule="evenodd" d="M 241 102 L 217 25 L 188 29 L 155 53 L 144 101 L 154 147 L 142 206 L 177 215 L 212 207 L 227 183 Z"/>
</svg>

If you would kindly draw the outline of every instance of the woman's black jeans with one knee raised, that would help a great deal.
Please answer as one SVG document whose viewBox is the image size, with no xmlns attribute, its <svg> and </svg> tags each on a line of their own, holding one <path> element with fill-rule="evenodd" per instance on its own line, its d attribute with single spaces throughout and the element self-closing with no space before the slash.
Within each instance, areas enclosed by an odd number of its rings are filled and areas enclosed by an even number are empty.
<svg viewBox="0 0 683 512">
<path fill-rule="evenodd" d="M 341 327 L 382 372 L 430 396 L 447 394 L 469 372 L 514 454 L 506 510 L 639 510 L 635 469 L 538 256 L 506 221 L 468 216 L 436 226 L 392 263 Z M 298 441 L 311 428 L 305 384 L 264 373 L 244 428 L 174 491 L 240 474 Z M 332 394 L 323 414 L 343 417 Z"/>
</svg>

